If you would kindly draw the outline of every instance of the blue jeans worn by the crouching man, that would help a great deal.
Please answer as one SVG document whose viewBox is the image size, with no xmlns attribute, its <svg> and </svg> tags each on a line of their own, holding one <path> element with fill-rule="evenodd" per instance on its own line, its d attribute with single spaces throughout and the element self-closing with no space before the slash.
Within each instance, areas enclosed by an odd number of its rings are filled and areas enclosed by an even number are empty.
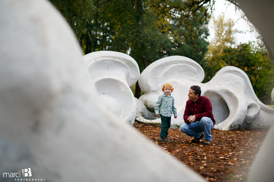
<svg viewBox="0 0 274 182">
<path fill-rule="evenodd" d="M 202 117 L 200 121 L 195 121 L 194 123 L 183 123 L 180 126 L 181 132 L 188 136 L 194 136 L 194 138 L 199 138 L 204 132 L 205 140 L 212 140 L 210 130 L 213 128 L 213 122 L 208 117 Z"/>
</svg>

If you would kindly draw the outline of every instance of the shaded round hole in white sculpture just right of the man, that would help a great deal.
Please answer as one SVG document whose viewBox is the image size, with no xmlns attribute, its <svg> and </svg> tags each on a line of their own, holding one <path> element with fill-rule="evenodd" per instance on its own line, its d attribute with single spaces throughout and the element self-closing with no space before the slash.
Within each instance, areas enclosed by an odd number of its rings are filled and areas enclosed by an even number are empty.
<svg viewBox="0 0 274 182">
<path fill-rule="evenodd" d="M 230 111 L 227 103 L 222 97 L 220 97 L 217 93 L 211 91 L 207 91 L 203 96 L 206 96 L 211 101 L 212 113 L 216 124 L 222 123 L 228 118 Z"/>
</svg>

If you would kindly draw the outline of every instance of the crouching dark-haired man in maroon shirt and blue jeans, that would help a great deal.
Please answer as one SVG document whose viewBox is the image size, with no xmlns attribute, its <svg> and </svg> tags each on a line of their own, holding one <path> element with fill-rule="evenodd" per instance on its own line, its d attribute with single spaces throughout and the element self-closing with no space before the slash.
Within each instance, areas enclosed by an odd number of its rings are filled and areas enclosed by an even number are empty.
<svg viewBox="0 0 274 182">
<path fill-rule="evenodd" d="M 201 96 L 201 87 L 191 86 L 184 110 L 184 123 L 180 126 L 181 132 L 193 136 L 192 143 L 200 142 L 205 136 L 204 144 L 209 145 L 212 140 L 210 131 L 214 125 L 215 120 L 209 98 Z"/>
</svg>

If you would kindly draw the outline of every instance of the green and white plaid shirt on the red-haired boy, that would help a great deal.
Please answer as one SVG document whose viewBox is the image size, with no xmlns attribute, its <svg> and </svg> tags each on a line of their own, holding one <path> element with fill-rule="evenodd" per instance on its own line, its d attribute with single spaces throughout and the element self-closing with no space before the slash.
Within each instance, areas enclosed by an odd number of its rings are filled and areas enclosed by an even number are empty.
<svg viewBox="0 0 274 182">
<path fill-rule="evenodd" d="M 171 117 L 172 112 L 174 113 L 174 117 L 177 117 L 177 110 L 174 107 L 174 98 L 173 96 L 166 96 L 165 93 L 160 95 L 158 101 L 155 104 L 155 114 L 159 114 L 159 107 L 160 107 L 160 115 Z"/>
</svg>

